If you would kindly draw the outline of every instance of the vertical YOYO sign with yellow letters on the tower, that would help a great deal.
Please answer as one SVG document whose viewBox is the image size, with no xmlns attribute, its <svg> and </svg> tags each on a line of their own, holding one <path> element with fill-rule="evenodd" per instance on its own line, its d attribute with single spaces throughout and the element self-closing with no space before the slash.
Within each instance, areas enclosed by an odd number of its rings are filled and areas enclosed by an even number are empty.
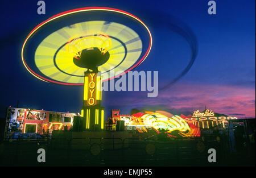
<svg viewBox="0 0 256 178">
<path fill-rule="evenodd" d="M 96 92 L 97 92 L 97 74 L 96 73 L 89 73 L 88 74 L 88 100 L 86 104 L 88 106 L 94 106 L 97 104 L 96 101 Z"/>
</svg>

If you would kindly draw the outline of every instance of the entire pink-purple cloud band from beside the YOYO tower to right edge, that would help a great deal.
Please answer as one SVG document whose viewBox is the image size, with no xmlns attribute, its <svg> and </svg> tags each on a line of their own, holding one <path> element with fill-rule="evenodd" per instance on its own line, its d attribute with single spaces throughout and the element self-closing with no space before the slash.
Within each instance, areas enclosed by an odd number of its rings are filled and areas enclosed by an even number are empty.
<svg viewBox="0 0 256 178">
<path fill-rule="evenodd" d="M 237 118 L 255 118 L 255 89 L 231 85 L 175 84 L 159 91 L 158 97 L 146 98 L 146 93 L 120 94 L 109 105 L 119 107 L 176 110 L 181 113 L 205 109 Z M 141 96 L 141 97 L 140 97 Z M 143 97 L 142 97 L 143 96 Z M 155 106 L 155 107 L 154 107 Z M 158 107 L 159 106 L 159 107 Z M 178 112 L 178 113 L 179 113 Z"/>
</svg>

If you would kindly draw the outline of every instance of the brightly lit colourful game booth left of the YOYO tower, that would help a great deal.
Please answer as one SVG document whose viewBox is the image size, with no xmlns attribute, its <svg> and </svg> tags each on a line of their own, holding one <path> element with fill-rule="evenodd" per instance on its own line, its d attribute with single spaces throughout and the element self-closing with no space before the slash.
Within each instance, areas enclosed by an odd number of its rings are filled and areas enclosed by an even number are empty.
<svg viewBox="0 0 256 178">
<path fill-rule="evenodd" d="M 74 115 L 77 114 L 9 107 L 5 138 L 40 138 L 51 135 L 53 130 L 69 130 Z"/>
</svg>

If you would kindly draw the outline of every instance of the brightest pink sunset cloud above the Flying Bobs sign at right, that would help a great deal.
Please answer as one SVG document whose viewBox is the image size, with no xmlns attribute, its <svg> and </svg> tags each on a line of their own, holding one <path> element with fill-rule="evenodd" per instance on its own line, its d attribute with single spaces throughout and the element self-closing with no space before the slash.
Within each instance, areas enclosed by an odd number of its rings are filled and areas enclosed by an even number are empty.
<svg viewBox="0 0 256 178">
<path fill-rule="evenodd" d="M 255 89 L 239 86 L 177 84 L 168 91 L 159 92 L 156 99 L 170 101 L 174 109 L 213 110 L 238 118 L 255 118 Z M 164 103 L 162 103 L 164 104 Z"/>
</svg>

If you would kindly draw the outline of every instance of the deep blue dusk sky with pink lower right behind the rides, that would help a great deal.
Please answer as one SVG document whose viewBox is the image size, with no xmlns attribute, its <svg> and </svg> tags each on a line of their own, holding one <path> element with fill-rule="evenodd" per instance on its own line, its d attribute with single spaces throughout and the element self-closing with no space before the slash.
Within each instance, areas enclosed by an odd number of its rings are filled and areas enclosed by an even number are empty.
<svg viewBox="0 0 256 178">
<path fill-rule="evenodd" d="M 208 14 L 207 0 L 46 0 L 45 15 L 37 14 L 37 2 L 0 2 L 0 117 L 17 101 L 22 108 L 80 112 L 82 86 L 38 80 L 24 68 L 20 53 L 26 36 L 44 20 L 63 11 L 99 6 L 127 11 L 147 25 L 152 49 L 135 71 L 159 72 L 158 97 L 147 98 L 148 92 L 104 92 L 105 117 L 111 109 L 120 109 L 121 114 L 137 108 L 188 115 L 206 106 L 216 113 L 255 118 L 255 1 L 216 1 L 216 15 Z M 195 39 L 185 39 L 170 24 L 191 32 Z M 195 52 L 191 68 L 173 82 Z"/>
</svg>

